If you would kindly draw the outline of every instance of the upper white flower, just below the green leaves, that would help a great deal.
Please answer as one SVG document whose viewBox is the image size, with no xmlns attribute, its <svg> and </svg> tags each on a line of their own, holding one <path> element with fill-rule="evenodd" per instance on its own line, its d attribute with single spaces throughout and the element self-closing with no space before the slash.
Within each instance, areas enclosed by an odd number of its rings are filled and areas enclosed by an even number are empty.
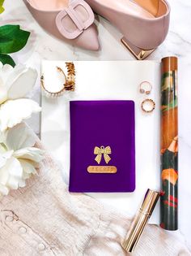
<svg viewBox="0 0 191 256">
<path fill-rule="evenodd" d="M 36 70 L 22 65 L 0 63 L 0 130 L 5 131 L 40 111 L 40 106 L 24 98 L 36 83 Z"/>
</svg>

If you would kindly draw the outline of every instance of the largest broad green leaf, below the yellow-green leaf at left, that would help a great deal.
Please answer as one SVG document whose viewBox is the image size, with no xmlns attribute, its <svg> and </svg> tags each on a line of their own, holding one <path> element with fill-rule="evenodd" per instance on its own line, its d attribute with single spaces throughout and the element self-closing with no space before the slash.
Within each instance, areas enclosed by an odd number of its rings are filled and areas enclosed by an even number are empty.
<svg viewBox="0 0 191 256">
<path fill-rule="evenodd" d="M 0 27 L 0 54 L 12 54 L 21 50 L 28 42 L 30 33 L 20 29 L 19 25 Z"/>
</svg>

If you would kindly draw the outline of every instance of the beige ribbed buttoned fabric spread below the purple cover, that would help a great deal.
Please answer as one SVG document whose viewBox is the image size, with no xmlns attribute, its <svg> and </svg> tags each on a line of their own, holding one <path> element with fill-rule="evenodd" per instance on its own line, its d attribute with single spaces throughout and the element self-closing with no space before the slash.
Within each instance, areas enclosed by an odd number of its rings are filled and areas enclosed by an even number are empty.
<svg viewBox="0 0 191 256">
<path fill-rule="evenodd" d="M 70 194 L 49 154 L 27 187 L 2 199 L 0 213 L 1 256 L 128 255 L 121 241 L 129 219 L 91 197 Z M 147 225 L 133 255 L 191 254 L 161 228 Z"/>
</svg>

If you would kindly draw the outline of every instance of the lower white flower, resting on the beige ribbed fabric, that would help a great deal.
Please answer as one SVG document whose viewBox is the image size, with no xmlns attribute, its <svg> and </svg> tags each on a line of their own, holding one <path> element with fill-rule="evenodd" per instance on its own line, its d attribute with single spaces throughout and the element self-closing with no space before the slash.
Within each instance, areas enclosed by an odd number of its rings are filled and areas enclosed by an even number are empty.
<svg viewBox="0 0 191 256">
<path fill-rule="evenodd" d="M 25 186 L 36 174 L 43 151 L 34 147 L 35 137 L 26 124 L 18 124 L 0 137 L 0 195 Z"/>
</svg>

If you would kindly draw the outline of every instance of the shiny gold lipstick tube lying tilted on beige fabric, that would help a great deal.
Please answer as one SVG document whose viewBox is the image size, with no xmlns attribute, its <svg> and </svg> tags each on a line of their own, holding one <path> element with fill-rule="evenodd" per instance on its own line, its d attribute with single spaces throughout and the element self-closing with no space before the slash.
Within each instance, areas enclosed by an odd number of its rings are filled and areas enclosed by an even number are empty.
<svg viewBox="0 0 191 256">
<path fill-rule="evenodd" d="M 141 208 L 135 215 L 133 223 L 130 225 L 129 232 L 125 237 L 125 241 L 122 242 L 122 247 L 129 253 L 133 252 L 135 246 L 138 243 L 140 236 L 151 217 L 155 205 L 159 200 L 160 193 L 148 189 L 142 202 Z"/>
</svg>

